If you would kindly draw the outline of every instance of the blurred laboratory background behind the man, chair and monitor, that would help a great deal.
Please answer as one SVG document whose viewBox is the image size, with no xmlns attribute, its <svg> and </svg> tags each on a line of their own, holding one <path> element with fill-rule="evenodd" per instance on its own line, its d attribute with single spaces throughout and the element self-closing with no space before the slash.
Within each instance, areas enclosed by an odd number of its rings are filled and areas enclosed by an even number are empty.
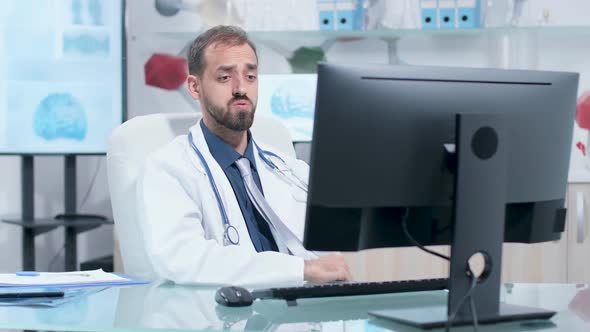
<svg viewBox="0 0 590 332">
<path fill-rule="evenodd" d="M 185 86 L 187 47 L 220 24 L 244 28 L 256 43 L 257 112 L 287 126 L 303 160 L 320 61 L 579 72 L 566 232 L 557 242 L 504 244 L 502 279 L 590 282 L 588 0 L 2 1 L 0 272 L 23 269 L 30 250 L 37 270 L 122 270 L 108 137 L 136 116 L 200 112 Z M 23 216 L 50 223 L 68 212 L 97 222 L 75 233 L 19 223 Z M 346 259 L 357 280 L 448 275 L 445 262 L 416 248 Z"/>
</svg>

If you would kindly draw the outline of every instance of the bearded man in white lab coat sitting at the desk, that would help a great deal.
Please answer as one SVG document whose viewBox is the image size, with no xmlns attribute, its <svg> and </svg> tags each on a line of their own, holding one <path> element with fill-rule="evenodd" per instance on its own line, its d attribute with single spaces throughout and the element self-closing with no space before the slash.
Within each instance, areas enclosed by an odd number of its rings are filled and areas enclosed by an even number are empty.
<svg viewBox="0 0 590 332">
<path fill-rule="evenodd" d="M 258 56 L 246 33 L 212 28 L 195 39 L 188 61 L 187 87 L 202 121 L 148 158 L 137 186 L 154 271 L 177 283 L 350 280 L 341 256 L 317 258 L 302 247 L 306 191 L 268 167 L 260 151 L 279 155 L 305 186 L 308 165 L 256 145 L 249 131 Z"/>
</svg>

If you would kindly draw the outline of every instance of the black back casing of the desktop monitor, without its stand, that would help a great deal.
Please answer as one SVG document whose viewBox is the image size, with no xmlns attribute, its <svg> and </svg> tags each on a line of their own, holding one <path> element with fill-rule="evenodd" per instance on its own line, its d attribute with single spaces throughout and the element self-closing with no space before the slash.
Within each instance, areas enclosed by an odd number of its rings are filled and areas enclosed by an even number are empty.
<svg viewBox="0 0 590 332">
<path fill-rule="evenodd" d="M 577 84 L 577 73 L 321 64 L 306 247 L 410 246 L 402 217 L 420 243 L 449 244 L 457 114 L 505 124 L 504 241 L 559 239 Z"/>
</svg>

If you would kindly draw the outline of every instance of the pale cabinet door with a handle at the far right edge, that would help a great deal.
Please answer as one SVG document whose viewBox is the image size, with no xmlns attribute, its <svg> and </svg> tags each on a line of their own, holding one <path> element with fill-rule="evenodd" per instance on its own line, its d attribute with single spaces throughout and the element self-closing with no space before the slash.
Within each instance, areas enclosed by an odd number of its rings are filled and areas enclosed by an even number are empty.
<svg viewBox="0 0 590 332">
<path fill-rule="evenodd" d="M 567 281 L 590 283 L 590 184 L 571 184 L 568 187 L 567 216 Z"/>
</svg>

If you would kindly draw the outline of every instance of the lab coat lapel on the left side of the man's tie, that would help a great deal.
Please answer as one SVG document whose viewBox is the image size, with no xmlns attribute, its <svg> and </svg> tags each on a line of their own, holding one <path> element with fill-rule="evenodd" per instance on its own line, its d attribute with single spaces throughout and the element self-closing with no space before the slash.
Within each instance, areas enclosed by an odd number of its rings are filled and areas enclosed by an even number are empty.
<svg viewBox="0 0 590 332">
<path fill-rule="evenodd" d="M 229 183 L 227 176 L 225 176 L 223 169 L 221 169 L 217 161 L 211 155 L 211 152 L 209 151 L 209 146 L 207 145 L 205 137 L 203 136 L 201 126 L 197 123 L 197 125 L 193 126 L 190 130 L 193 134 L 195 145 L 197 146 L 201 154 L 203 154 L 203 157 L 207 161 L 207 165 L 211 170 L 211 174 L 213 175 L 213 179 L 215 180 L 215 184 L 217 185 L 217 189 L 219 190 L 219 195 L 221 196 L 221 200 L 223 202 L 223 205 L 225 206 L 229 222 L 232 226 L 236 228 L 236 230 L 240 234 L 240 247 L 246 247 L 249 250 L 256 251 L 254 245 L 252 244 L 252 241 L 250 240 L 250 234 L 248 233 L 248 228 L 246 227 L 246 223 L 244 221 L 244 217 L 242 216 L 242 211 L 240 210 L 240 205 L 238 204 L 238 200 L 236 199 L 234 190 L 231 187 L 231 184 Z M 193 161 L 196 159 L 196 162 L 199 165 L 202 165 L 199 158 L 195 155 L 194 151 L 193 155 L 195 157 L 193 158 Z M 201 166 L 201 168 L 203 167 Z M 209 179 L 206 179 L 206 181 L 207 183 L 209 183 Z M 209 188 L 207 195 L 210 195 L 212 197 L 210 201 L 214 204 L 213 206 L 204 206 L 203 209 L 214 209 L 215 213 L 213 215 L 218 216 L 218 218 L 215 218 L 216 220 L 209 220 L 206 222 L 219 223 L 219 225 L 223 228 L 223 218 L 221 216 L 221 213 L 219 212 L 219 207 L 217 206 L 217 200 L 215 199 L 213 188 L 211 188 L 211 185 L 209 184 L 207 184 L 206 187 Z M 222 242 L 220 242 L 220 244 L 223 245 L 223 239 Z"/>
</svg>

